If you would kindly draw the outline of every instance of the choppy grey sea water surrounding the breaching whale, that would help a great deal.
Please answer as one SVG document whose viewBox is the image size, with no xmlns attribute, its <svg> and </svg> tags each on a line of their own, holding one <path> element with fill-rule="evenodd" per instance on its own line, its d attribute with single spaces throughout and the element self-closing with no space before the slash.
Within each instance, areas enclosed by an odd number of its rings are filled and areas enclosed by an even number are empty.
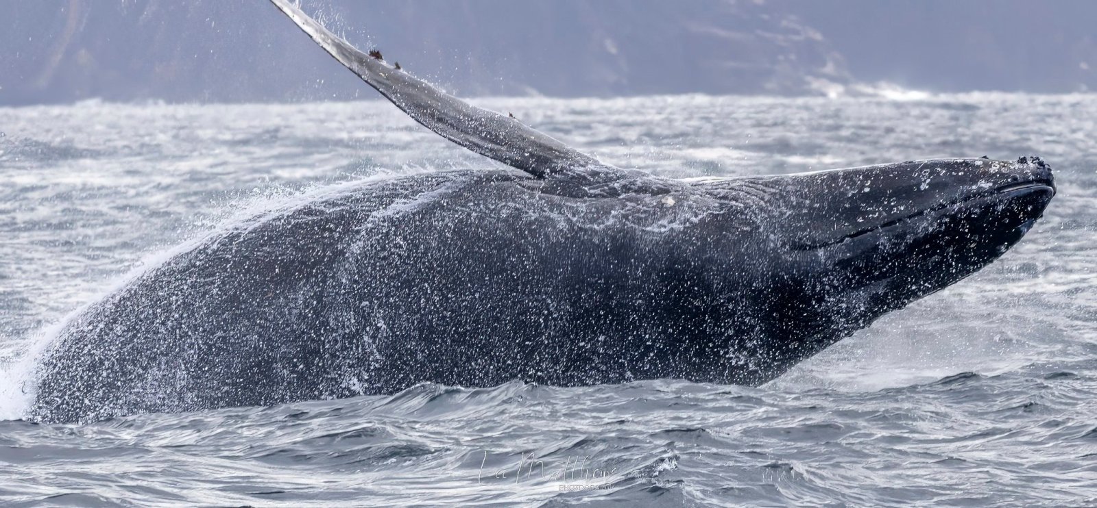
<svg viewBox="0 0 1097 508">
<path fill-rule="evenodd" d="M 761 388 L 420 385 L 92 425 L 20 420 L 56 324 L 312 187 L 498 164 L 381 102 L 0 108 L 0 504 L 1097 505 L 1097 96 L 486 100 L 667 176 L 1038 154 L 1002 259 Z"/>
</svg>

